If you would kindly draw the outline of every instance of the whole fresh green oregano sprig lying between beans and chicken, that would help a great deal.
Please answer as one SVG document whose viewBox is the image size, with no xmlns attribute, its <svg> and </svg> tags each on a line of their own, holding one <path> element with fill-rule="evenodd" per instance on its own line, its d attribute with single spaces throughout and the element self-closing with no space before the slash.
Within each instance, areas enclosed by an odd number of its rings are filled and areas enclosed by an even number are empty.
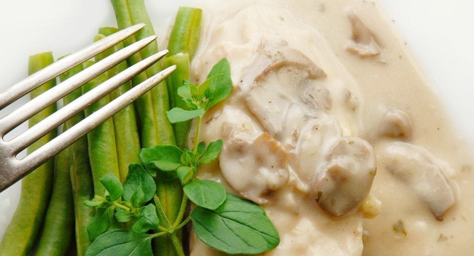
<svg viewBox="0 0 474 256">
<path fill-rule="evenodd" d="M 227 98 L 232 91 L 230 65 L 223 59 L 213 66 L 207 80 L 197 86 L 185 81 L 178 88 L 190 110 L 173 108 L 167 112 L 171 123 L 196 118 L 196 140 L 192 150 L 173 145 L 158 145 L 140 152 L 140 164 L 130 164 L 123 183 L 110 174 L 101 182 L 107 189 L 105 196 L 95 196 L 84 202 L 97 207 L 96 216 L 89 224 L 89 235 L 95 239 L 86 255 L 144 255 L 151 256 L 151 239 L 168 234 L 176 252 L 184 256 L 176 231 L 193 221 L 197 237 L 206 245 L 228 254 L 259 254 L 275 248 L 279 236 L 265 210 L 250 201 L 226 192 L 220 183 L 197 178 L 202 163 L 216 160 L 223 146 L 222 140 L 205 145 L 197 142 L 204 113 Z M 174 223 L 166 218 L 161 202 L 155 195 L 153 177 L 179 179 L 184 197 Z M 155 204 L 149 203 L 154 199 Z M 188 199 L 196 204 L 185 217 Z M 158 215 L 163 223 L 159 223 Z M 131 224 L 131 230 L 107 229 L 113 221 Z M 127 225 L 125 225 L 127 226 Z M 160 232 L 147 234 L 150 230 Z M 158 249 L 159 250 L 159 249 Z"/>
</svg>

